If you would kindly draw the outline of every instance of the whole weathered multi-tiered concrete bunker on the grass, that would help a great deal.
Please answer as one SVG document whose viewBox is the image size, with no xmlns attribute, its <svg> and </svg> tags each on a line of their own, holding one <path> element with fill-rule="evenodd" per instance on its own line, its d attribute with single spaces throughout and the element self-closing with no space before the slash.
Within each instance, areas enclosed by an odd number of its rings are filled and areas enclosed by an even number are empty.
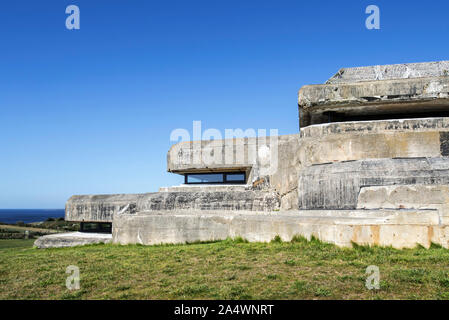
<svg viewBox="0 0 449 320">
<path fill-rule="evenodd" d="M 449 61 L 340 69 L 299 90 L 298 133 L 175 144 L 167 170 L 184 184 L 73 196 L 66 220 L 110 223 L 121 244 L 302 235 L 448 248 L 448 70 Z"/>
</svg>

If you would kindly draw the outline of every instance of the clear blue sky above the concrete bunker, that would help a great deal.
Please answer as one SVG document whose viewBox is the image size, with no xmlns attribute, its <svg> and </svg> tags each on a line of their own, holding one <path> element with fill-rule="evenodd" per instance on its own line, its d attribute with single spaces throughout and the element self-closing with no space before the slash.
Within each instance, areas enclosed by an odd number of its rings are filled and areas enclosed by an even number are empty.
<svg viewBox="0 0 449 320">
<path fill-rule="evenodd" d="M 67 30 L 78 5 L 81 29 Z M 365 8 L 381 29 L 365 28 Z M 170 133 L 298 132 L 340 67 L 449 59 L 449 1 L 2 1 L 0 208 L 157 191 Z"/>
</svg>

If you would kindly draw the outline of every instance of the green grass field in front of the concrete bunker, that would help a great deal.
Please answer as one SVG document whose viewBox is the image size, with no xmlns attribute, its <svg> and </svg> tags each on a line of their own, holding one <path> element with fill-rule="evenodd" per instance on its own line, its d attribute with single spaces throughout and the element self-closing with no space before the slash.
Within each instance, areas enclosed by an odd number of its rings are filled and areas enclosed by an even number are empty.
<svg viewBox="0 0 449 320">
<path fill-rule="evenodd" d="M 32 248 L 0 241 L 0 299 L 449 299 L 449 250 L 341 249 L 316 240 Z M 80 290 L 65 287 L 67 266 Z M 365 287 L 380 269 L 380 289 Z"/>
</svg>

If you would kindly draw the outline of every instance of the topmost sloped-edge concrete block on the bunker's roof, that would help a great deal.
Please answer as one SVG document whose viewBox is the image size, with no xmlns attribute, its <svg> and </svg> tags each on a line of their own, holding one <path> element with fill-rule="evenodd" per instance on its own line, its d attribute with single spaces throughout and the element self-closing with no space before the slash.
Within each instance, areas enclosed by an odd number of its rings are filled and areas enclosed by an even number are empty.
<svg viewBox="0 0 449 320">
<path fill-rule="evenodd" d="M 341 68 L 326 84 L 449 76 L 449 61 Z"/>
</svg>

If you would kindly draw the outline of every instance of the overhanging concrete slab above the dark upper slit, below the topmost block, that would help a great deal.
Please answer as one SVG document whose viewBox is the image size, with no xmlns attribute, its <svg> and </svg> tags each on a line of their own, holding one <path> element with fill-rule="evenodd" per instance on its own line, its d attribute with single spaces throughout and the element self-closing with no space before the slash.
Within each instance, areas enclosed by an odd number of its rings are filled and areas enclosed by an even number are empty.
<svg viewBox="0 0 449 320">
<path fill-rule="evenodd" d="M 449 105 L 449 77 L 308 85 L 298 92 L 300 127 L 341 117 L 442 112 Z"/>
</svg>

